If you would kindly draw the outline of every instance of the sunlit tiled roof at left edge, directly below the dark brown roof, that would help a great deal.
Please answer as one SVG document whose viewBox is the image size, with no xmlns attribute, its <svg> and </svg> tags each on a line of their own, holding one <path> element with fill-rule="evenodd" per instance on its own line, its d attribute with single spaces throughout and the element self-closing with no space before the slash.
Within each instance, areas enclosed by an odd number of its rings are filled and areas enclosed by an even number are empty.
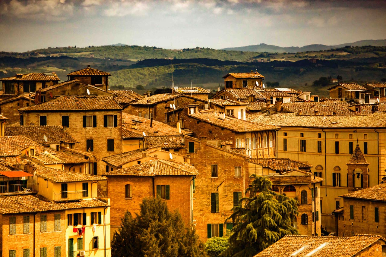
<svg viewBox="0 0 386 257">
<path fill-rule="evenodd" d="M 30 146 L 39 147 L 39 144 L 24 135 L 0 137 L 0 156 L 19 156 Z"/>
</svg>

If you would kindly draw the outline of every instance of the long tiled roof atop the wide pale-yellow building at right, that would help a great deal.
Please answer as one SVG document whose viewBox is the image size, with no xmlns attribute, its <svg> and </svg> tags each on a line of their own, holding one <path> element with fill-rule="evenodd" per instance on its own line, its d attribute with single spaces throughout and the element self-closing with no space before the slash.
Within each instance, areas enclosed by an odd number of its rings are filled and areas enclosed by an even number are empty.
<svg viewBox="0 0 386 257">
<path fill-rule="evenodd" d="M 247 116 L 250 122 L 281 127 L 315 128 L 378 128 L 386 127 L 386 113 L 376 112 L 359 116 L 298 116 L 295 113 L 254 113 Z"/>
</svg>

